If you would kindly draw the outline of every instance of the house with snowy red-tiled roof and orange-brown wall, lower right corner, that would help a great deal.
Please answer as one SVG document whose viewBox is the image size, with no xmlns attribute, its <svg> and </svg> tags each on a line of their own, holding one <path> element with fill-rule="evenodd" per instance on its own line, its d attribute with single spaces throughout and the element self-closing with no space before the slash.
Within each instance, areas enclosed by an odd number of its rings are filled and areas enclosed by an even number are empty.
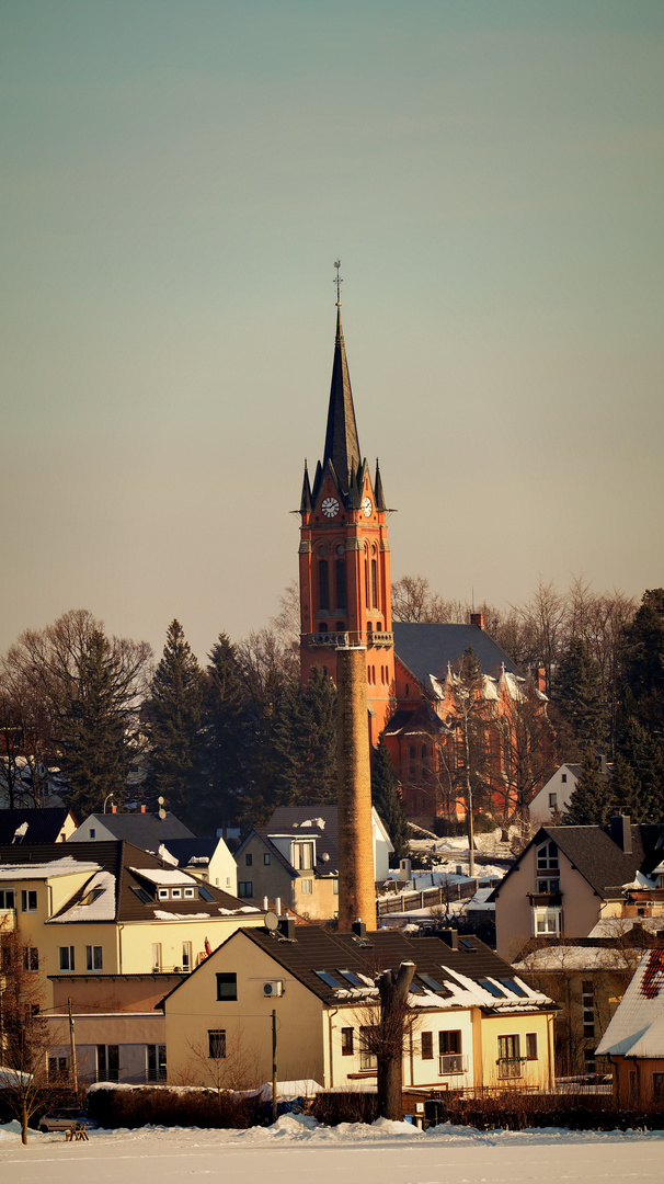
<svg viewBox="0 0 664 1184">
<path fill-rule="evenodd" d="M 619 1105 L 664 1101 L 664 950 L 649 950 L 597 1049 Z"/>
</svg>

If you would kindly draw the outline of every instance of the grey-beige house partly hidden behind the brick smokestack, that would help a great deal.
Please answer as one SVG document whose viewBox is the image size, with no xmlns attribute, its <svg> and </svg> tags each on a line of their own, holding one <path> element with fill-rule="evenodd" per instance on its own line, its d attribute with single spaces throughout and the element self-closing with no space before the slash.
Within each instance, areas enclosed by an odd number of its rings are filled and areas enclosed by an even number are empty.
<svg viewBox="0 0 664 1184">
<path fill-rule="evenodd" d="M 394 850 L 383 823 L 372 809 L 374 879 L 387 877 Z M 260 903 L 281 900 L 310 920 L 333 919 L 339 907 L 339 832 L 336 806 L 281 806 L 267 826 L 249 832 L 236 851 L 238 895 Z"/>
</svg>

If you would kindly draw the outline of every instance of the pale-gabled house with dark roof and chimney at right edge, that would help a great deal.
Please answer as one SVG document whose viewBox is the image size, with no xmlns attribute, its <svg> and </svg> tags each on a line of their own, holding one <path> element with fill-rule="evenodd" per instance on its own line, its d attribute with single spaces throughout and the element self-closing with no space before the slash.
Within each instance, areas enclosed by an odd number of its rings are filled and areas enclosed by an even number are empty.
<svg viewBox="0 0 664 1184">
<path fill-rule="evenodd" d="M 586 938 L 611 918 L 658 916 L 664 825 L 625 815 L 594 826 L 542 826 L 494 889 L 496 948 L 515 959 L 530 938 Z"/>
</svg>

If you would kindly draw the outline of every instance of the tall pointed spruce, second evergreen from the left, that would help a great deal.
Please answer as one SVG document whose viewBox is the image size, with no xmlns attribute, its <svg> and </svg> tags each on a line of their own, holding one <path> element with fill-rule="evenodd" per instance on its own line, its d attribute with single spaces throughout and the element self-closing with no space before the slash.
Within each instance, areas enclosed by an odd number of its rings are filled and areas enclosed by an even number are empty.
<svg viewBox="0 0 664 1184">
<path fill-rule="evenodd" d="M 194 828 L 202 790 L 200 767 L 204 676 L 182 626 L 168 626 L 163 656 L 146 703 L 150 744 L 149 785 L 167 806 Z"/>
</svg>

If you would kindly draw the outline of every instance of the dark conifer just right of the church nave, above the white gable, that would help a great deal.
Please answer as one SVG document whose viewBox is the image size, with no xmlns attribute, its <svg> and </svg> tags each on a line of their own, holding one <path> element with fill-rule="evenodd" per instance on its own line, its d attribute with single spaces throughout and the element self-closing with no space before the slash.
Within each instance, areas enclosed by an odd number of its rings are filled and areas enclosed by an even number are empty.
<svg viewBox="0 0 664 1184">
<path fill-rule="evenodd" d="M 581 753 L 598 752 L 607 741 L 607 713 L 601 670 L 580 637 L 572 637 L 557 668 L 553 697 Z"/>
</svg>

